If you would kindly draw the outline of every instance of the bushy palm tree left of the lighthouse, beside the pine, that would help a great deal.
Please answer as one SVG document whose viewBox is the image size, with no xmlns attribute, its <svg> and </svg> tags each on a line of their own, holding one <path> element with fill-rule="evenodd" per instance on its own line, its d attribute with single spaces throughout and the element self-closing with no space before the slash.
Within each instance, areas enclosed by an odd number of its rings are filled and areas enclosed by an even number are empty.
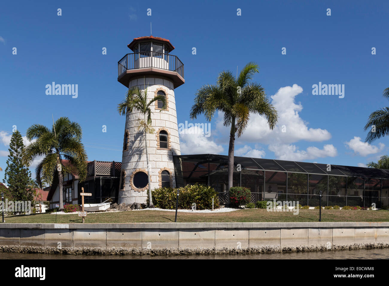
<svg viewBox="0 0 389 286">
<path fill-rule="evenodd" d="M 67 117 L 56 120 L 51 130 L 44 125 L 34 124 L 27 129 L 27 139 L 37 139 L 25 147 L 23 161 L 28 166 L 39 156 L 44 156 L 35 169 L 36 180 L 40 187 L 42 181 L 53 182 L 54 176 L 58 175 L 60 192 L 60 207 L 63 209 L 63 175 L 70 173 L 70 168 L 75 168 L 79 175 L 79 181 L 86 178 L 86 152 L 81 143 L 82 130 L 77 122 L 71 122 Z M 69 160 L 72 167 L 62 164 L 62 158 Z"/>
</svg>

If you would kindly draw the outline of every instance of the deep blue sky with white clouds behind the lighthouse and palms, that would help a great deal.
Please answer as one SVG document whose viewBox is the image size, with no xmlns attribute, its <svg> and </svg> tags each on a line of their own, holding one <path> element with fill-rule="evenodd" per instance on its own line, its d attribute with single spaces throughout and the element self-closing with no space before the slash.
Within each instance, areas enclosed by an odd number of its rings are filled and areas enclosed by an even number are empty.
<svg viewBox="0 0 389 286">
<path fill-rule="evenodd" d="M 254 81 L 273 96 L 281 116 L 273 132 L 252 116 L 236 155 L 354 166 L 377 161 L 387 154 L 388 138 L 366 146 L 363 126 L 372 111 L 388 105 L 382 97 L 388 11 L 385 1 L 3 1 L 0 167 L 5 169 L 12 126 L 25 134 L 34 123 L 52 125 L 52 114 L 81 124 L 89 160 L 121 161 L 125 118 L 116 106 L 126 88 L 117 82 L 117 61 L 131 53 L 133 38 L 150 35 L 150 22 L 152 35 L 169 39 L 171 54 L 184 63 L 186 83 L 175 89 L 178 123 L 191 122 L 198 88 L 215 83 L 221 70 L 235 73 L 254 61 L 260 67 Z M 78 84 L 78 97 L 46 95 L 53 81 Z M 319 82 L 344 84 L 344 98 L 312 95 Z M 286 133 L 280 133 L 282 125 Z M 182 153 L 228 152 L 228 129 L 218 114 L 210 137 L 182 134 L 180 140 Z"/>
</svg>

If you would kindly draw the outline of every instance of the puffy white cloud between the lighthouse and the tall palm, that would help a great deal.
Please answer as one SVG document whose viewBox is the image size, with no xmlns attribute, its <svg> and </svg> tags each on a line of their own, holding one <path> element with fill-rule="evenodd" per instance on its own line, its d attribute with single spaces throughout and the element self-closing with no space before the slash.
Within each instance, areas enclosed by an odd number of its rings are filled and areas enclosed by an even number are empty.
<svg viewBox="0 0 389 286">
<path fill-rule="evenodd" d="M 205 137 L 204 130 L 197 126 L 184 129 L 180 133 L 182 154 L 220 154 L 223 147 L 216 144 L 210 137 Z"/>
</svg>

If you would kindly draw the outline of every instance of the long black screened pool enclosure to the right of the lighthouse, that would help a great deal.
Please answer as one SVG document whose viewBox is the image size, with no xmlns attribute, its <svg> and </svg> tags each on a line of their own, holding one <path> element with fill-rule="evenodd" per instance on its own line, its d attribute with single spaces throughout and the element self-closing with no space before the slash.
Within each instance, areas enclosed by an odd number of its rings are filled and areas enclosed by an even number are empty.
<svg viewBox="0 0 389 286">
<path fill-rule="evenodd" d="M 196 182 L 212 186 L 221 204 L 228 202 L 228 156 L 196 154 L 175 156 L 182 162 L 180 184 Z M 233 186 L 251 190 L 251 201 L 299 201 L 301 205 L 321 204 L 371 207 L 389 204 L 389 170 L 327 165 L 296 161 L 234 157 Z M 241 170 L 238 171 L 238 164 Z"/>
</svg>

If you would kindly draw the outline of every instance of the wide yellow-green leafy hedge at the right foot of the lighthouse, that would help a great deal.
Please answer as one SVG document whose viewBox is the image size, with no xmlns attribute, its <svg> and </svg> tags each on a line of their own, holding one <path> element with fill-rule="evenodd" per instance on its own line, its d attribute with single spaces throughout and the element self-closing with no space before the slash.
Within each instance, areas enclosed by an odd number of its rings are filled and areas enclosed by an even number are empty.
<svg viewBox="0 0 389 286">
<path fill-rule="evenodd" d="M 219 207 L 219 198 L 217 192 L 209 187 L 198 183 L 194 185 L 186 185 L 179 188 L 178 197 L 179 209 L 191 209 L 192 204 L 196 204 L 196 209 L 212 209 L 212 198 L 214 199 L 214 209 Z M 155 207 L 161 209 L 175 209 L 177 201 L 177 189 L 173 188 L 158 188 L 151 191 L 152 202 Z M 147 205 L 149 197 L 147 196 Z"/>
</svg>

